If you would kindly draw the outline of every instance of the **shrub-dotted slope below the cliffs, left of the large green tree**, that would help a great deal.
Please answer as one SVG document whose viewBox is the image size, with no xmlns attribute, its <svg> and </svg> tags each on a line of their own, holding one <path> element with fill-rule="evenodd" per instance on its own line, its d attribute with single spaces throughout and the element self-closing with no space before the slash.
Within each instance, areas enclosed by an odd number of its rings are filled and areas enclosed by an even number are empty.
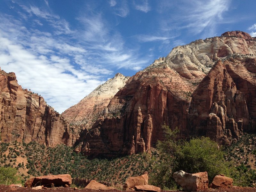
<svg viewBox="0 0 256 192">
<path fill-rule="evenodd" d="M 113 186 L 124 184 L 130 176 L 138 176 L 145 171 L 151 172 L 154 166 L 154 162 L 150 161 L 151 157 L 146 153 L 111 159 L 88 159 L 86 156 L 74 152 L 74 148 L 64 144 L 48 148 L 36 142 L 23 143 L 21 150 L 18 151 L 19 145 L 19 143 L 2 144 L 5 154 L 1 155 L 0 160 L 5 167 L 19 168 L 19 171 L 24 170 L 24 180 L 28 179 L 28 175 L 36 177 L 48 174 L 70 174 L 72 178 L 97 178 L 97 181 Z M 24 165 L 23 162 L 13 164 L 18 157 L 14 152 L 16 150 L 20 153 L 20 157 L 25 157 L 24 159 L 28 161 L 27 164 Z M 157 153 L 154 154 L 154 158 L 157 158 Z"/>
</svg>

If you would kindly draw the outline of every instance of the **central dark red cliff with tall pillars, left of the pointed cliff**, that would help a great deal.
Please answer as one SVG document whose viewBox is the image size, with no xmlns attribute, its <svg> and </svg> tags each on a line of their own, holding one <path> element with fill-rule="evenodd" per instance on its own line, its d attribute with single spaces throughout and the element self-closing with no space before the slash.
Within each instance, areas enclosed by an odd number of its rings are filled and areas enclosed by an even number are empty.
<svg viewBox="0 0 256 192">
<path fill-rule="evenodd" d="M 155 63 L 156 64 L 156 63 Z M 153 65 L 155 65 L 153 64 Z M 131 77 L 111 99 L 103 115 L 80 138 L 86 155 L 133 154 L 147 151 L 163 139 L 161 125 L 183 127 L 189 94 L 195 89 L 163 60 Z"/>
</svg>

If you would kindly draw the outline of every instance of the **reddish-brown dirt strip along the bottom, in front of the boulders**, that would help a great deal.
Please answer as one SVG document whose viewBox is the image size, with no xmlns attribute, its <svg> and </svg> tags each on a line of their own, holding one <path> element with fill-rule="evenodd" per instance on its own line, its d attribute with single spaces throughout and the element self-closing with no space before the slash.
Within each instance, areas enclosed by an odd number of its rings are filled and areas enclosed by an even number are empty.
<svg viewBox="0 0 256 192">
<path fill-rule="evenodd" d="M 40 192 L 71 192 L 74 191 L 74 188 L 47 188 L 47 189 L 40 189 Z M 77 189 L 76 192 L 120 192 L 120 190 L 92 190 L 92 189 Z M 24 187 L 12 187 L 6 185 L 0 185 L 0 192 L 36 192 L 36 190 L 31 188 L 24 188 Z M 161 190 L 161 192 L 169 192 Z M 174 191 L 173 191 L 174 192 Z M 203 191 L 201 191 L 203 192 Z M 256 188 L 243 188 L 243 187 L 233 187 L 228 189 L 209 189 L 205 192 L 256 192 Z"/>
</svg>

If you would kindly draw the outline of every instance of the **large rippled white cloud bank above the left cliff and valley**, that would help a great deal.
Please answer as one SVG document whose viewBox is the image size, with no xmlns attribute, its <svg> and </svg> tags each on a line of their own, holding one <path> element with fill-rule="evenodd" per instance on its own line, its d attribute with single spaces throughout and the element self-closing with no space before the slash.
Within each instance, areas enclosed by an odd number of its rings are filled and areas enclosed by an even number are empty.
<svg viewBox="0 0 256 192">
<path fill-rule="evenodd" d="M 119 12 L 125 6 L 114 9 Z M 80 14 L 79 28 L 73 30 L 48 4 L 20 7 L 19 19 L 0 14 L 0 66 L 15 72 L 23 88 L 41 94 L 60 113 L 111 77 L 111 68 L 139 70 L 148 62 L 136 48 L 124 46 L 123 37 L 101 12 Z M 129 8 L 119 13 L 125 16 Z M 40 31 L 38 25 L 51 30 Z"/>
</svg>

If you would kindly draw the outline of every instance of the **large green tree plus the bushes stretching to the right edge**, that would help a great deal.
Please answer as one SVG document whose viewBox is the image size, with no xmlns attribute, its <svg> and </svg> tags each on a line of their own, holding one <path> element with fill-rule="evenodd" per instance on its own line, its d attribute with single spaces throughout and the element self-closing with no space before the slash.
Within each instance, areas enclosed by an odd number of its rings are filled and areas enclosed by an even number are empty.
<svg viewBox="0 0 256 192">
<path fill-rule="evenodd" d="M 165 140 L 157 143 L 160 159 L 154 168 L 155 174 L 150 178 L 151 184 L 167 189 L 177 189 L 178 186 L 172 178 L 172 174 L 183 170 L 188 173 L 206 171 L 209 182 L 213 180 L 214 176 L 224 174 L 233 178 L 235 185 L 243 187 L 255 185 L 256 170 L 251 169 L 251 165 L 245 165 L 249 158 L 245 159 L 245 163 L 234 166 L 234 161 L 232 159 L 226 161 L 225 151 L 209 138 L 177 141 L 178 130 L 172 131 L 166 125 L 163 125 L 163 129 Z M 238 151 L 244 153 L 243 148 Z M 226 159 L 228 158 L 226 157 Z M 252 159 L 251 162 L 253 161 L 255 159 Z"/>
</svg>

